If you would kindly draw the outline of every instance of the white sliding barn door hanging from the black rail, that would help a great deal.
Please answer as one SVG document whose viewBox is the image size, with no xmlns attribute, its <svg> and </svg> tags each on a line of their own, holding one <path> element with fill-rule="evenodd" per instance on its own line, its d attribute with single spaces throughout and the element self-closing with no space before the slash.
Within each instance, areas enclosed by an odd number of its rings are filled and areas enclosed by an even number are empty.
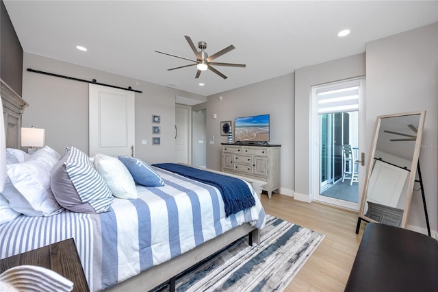
<svg viewBox="0 0 438 292">
<path fill-rule="evenodd" d="M 90 84 L 90 156 L 133 156 L 135 94 L 132 91 Z"/>
</svg>

